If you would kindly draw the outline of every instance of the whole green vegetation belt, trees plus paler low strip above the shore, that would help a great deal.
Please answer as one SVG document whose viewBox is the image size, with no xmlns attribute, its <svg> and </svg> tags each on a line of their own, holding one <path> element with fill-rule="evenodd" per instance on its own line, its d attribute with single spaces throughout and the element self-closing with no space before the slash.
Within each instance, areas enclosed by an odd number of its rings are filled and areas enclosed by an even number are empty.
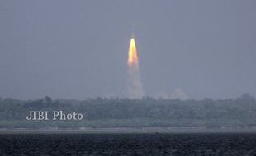
<svg viewBox="0 0 256 156">
<path fill-rule="evenodd" d="M 29 111 L 83 113 L 82 121 L 26 121 Z M 0 100 L 0 128 L 256 127 L 256 100 L 55 99 Z"/>
</svg>

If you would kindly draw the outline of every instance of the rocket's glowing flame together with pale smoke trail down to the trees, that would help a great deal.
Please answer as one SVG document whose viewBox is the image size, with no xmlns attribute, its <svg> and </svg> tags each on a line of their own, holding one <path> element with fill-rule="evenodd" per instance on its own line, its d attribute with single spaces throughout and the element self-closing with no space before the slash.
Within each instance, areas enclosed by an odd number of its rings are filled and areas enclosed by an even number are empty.
<svg viewBox="0 0 256 156">
<path fill-rule="evenodd" d="M 130 46 L 128 51 L 128 97 L 131 99 L 140 99 L 145 93 L 142 83 L 140 81 L 139 57 L 137 55 L 135 39 L 130 39 Z"/>
</svg>

